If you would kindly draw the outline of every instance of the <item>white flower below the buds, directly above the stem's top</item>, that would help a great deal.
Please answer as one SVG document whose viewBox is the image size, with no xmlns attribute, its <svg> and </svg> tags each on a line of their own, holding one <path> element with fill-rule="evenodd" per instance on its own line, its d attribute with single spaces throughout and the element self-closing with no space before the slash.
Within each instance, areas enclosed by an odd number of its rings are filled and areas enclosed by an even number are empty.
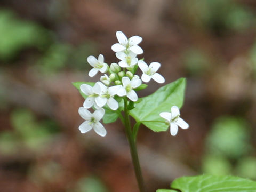
<svg viewBox="0 0 256 192">
<path fill-rule="evenodd" d="M 120 89 L 117 92 L 117 95 L 120 97 L 127 95 L 127 97 L 131 101 L 137 101 L 138 96 L 133 89 L 141 85 L 141 80 L 138 78 L 133 78 L 132 80 L 130 80 L 129 77 L 123 77 L 122 83 L 123 86 L 120 87 Z"/>
</svg>

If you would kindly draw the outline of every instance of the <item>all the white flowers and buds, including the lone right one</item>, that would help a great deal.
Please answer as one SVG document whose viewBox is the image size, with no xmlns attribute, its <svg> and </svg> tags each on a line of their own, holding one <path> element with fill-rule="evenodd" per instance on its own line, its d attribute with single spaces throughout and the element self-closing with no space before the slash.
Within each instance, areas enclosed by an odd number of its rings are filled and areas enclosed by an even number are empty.
<svg viewBox="0 0 256 192">
<path fill-rule="evenodd" d="M 87 84 L 80 86 L 80 90 L 87 95 L 83 107 L 78 110 L 79 115 L 85 120 L 79 126 L 79 130 L 82 133 L 93 129 L 97 134 L 105 136 L 106 129 L 99 122 L 105 114 L 103 107 L 118 110 L 119 103 L 116 100 L 118 97 L 127 97 L 130 101 L 137 101 L 138 95 L 134 89 L 140 87 L 142 81 L 147 83 L 150 79 L 153 79 L 157 83 L 165 82 L 164 77 L 157 73 L 161 66 L 160 63 L 152 62 L 148 66 L 145 61 L 138 59 L 138 55 L 143 53 L 143 50 L 138 45 L 142 41 L 140 36 L 127 38 L 122 31 L 117 31 L 116 37 L 118 43 L 112 45 L 111 49 L 116 52 L 116 57 L 119 59 L 118 63 L 113 62 L 108 65 L 104 62 L 102 54 L 99 55 L 98 59 L 94 56 L 87 58 L 87 62 L 93 67 L 89 71 L 89 76 L 93 77 L 99 71 L 103 75 L 100 77 L 100 81 L 93 86 Z M 138 68 L 142 71 L 141 78 L 135 75 Z M 88 110 L 92 107 L 95 109 L 93 114 Z M 178 127 L 175 126 L 183 126 L 179 117 L 175 116 L 175 119 L 173 119 L 173 116 L 168 115 L 167 112 L 160 115 L 170 122 L 171 130 L 173 130 L 171 131 L 172 135 L 175 135 L 178 131 Z"/>
</svg>

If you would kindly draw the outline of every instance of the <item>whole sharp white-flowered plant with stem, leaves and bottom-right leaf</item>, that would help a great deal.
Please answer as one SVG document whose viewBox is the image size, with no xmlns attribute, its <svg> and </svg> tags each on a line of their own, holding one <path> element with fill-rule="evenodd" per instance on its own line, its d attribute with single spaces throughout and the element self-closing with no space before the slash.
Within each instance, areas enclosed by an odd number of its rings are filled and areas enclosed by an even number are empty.
<svg viewBox="0 0 256 192">
<path fill-rule="evenodd" d="M 183 105 L 185 94 L 186 79 L 180 78 L 175 82 L 166 84 L 147 97 L 139 98 L 137 92 L 147 88 L 148 83 L 153 79 L 157 83 L 164 83 L 164 77 L 157 73 L 161 67 L 159 62 L 151 62 L 148 66 L 144 59 L 139 59 L 138 55 L 143 50 L 138 45 L 142 38 L 132 36 L 127 38 L 122 31 L 116 32 L 118 43 L 111 46 L 116 52 L 118 63 L 113 62 L 108 65 L 104 62 L 102 54 L 98 59 L 89 56 L 88 63 L 93 67 L 89 71 L 89 76 L 93 77 L 97 73 L 102 73 L 100 81 L 94 82 L 75 82 L 73 85 L 79 90 L 85 98 L 83 107 L 78 109 L 79 115 L 85 120 L 80 126 L 81 133 L 94 130 L 95 133 L 104 137 L 107 130 L 100 123 L 113 123 L 118 118 L 124 125 L 127 140 L 130 145 L 130 152 L 138 187 L 140 192 L 145 192 L 146 187 L 143 182 L 137 148 L 136 138 L 141 124 L 154 132 L 167 131 L 170 127 L 171 135 L 178 133 L 178 126 L 182 129 L 188 129 L 189 125 L 180 117 L 179 108 Z M 142 76 L 138 76 L 137 70 L 140 69 Z M 90 109 L 91 108 L 91 109 Z M 91 113 L 88 109 L 93 111 Z M 135 124 L 132 125 L 130 117 L 134 118 Z M 201 183 L 207 180 L 206 183 Z M 226 188 L 221 188 L 218 182 L 226 181 Z M 211 181 L 214 185 L 211 185 Z M 158 189 L 158 192 L 193 192 L 193 191 L 233 191 L 234 183 L 245 181 L 245 186 L 240 186 L 236 191 L 256 191 L 256 183 L 235 177 L 218 178 L 212 175 L 203 175 L 197 177 L 182 177 L 176 179 L 171 189 Z M 200 190 L 204 187 L 209 190 Z M 190 188 L 191 187 L 191 188 Z M 221 190 L 220 190 L 221 188 Z M 227 189 L 227 190 L 226 190 Z M 251 190 L 255 189 L 255 190 Z"/>
</svg>

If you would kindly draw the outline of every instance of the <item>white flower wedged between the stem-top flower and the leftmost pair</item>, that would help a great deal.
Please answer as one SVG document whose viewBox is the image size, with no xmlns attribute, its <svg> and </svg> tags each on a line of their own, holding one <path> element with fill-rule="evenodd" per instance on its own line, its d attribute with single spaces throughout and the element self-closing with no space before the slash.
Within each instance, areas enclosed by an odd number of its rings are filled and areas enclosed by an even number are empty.
<svg viewBox="0 0 256 192">
<path fill-rule="evenodd" d="M 106 87 L 101 82 L 98 82 L 98 84 L 100 85 L 100 94 L 99 94 L 99 97 L 95 98 L 95 102 L 97 106 L 103 107 L 107 103 L 110 109 L 112 110 L 118 109 L 119 107 L 118 102 L 114 99 L 114 95 L 117 94 L 121 85 Z"/>
</svg>

